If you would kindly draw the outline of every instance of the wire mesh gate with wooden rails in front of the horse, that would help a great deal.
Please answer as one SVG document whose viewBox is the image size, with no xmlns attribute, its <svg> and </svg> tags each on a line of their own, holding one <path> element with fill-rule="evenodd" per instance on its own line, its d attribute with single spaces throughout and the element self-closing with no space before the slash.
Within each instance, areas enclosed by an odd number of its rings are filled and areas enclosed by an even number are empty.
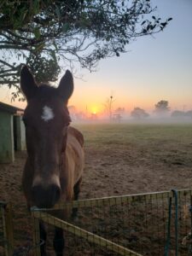
<svg viewBox="0 0 192 256">
<path fill-rule="evenodd" d="M 177 205 L 170 206 L 174 197 L 168 191 L 73 201 L 49 210 L 33 208 L 34 246 L 40 238 L 38 222 L 43 220 L 64 230 L 65 255 L 192 255 L 192 190 L 177 191 Z M 73 209 L 78 209 L 77 218 L 72 218 Z M 64 219 L 58 218 L 62 212 Z"/>
</svg>

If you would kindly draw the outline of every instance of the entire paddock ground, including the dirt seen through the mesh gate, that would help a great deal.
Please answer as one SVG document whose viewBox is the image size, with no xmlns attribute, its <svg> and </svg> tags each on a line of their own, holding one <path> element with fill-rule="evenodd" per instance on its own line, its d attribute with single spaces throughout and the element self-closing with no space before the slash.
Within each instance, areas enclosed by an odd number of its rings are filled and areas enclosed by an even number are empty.
<svg viewBox="0 0 192 256">
<path fill-rule="evenodd" d="M 171 189 L 178 189 L 178 191 L 180 191 L 192 188 L 191 125 L 79 125 L 78 128 L 84 133 L 84 149 L 86 155 L 84 177 L 80 193 L 81 200 L 86 198 L 108 198 L 110 196 L 117 198 L 121 195 L 137 195 L 138 193 L 145 195 L 151 191 L 157 191 L 158 193 L 160 191 L 169 191 L 167 193 L 171 193 Z M 0 200 L 12 202 L 15 252 L 19 252 L 19 248 L 32 246 L 32 220 L 26 210 L 26 202 L 20 186 L 21 170 L 25 159 L 25 152 L 16 152 L 14 164 L 0 165 Z M 178 227 L 179 225 L 182 225 L 182 230 L 184 230 L 182 231 L 183 235 L 179 235 L 180 239 L 183 240 L 183 243 L 179 244 L 179 250 L 183 250 L 183 252 L 186 253 L 186 250 L 188 250 L 190 246 L 190 237 L 188 236 L 190 232 L 190 195 L 188 193 L 186 196 L 182 195 L 181 198 L 183 198 L 183 201 L 186 200 L 186 206 L 179 208 L 179 211 L 181 210 L 181 213 L 179 214 L 181 214 L 183 221 L 181 224 L 178 224 Z M 165 217 L 162 218 L 162 220 L 164 220 L 162 227 L 165 227 L 165 232 L 163 231 L 162 233 L 165 234 L 163 235 L 165 236 L 165 240 L 168 220 L 168 201 L 169 197 L 166 195 L 166 198 L 163 200 L 159 199 L 157 203 L 153 200 L 154 207 L 152 207 L 154 212 L 165 214 Z M 146 219 L 147 224 L 156 224 L 156 220 L 158 218 L 150 218 L 152 215 L 150 214 L 151 210 L 149 202 L 146 207 L 148 212 L 148 214 L 146 214 L 148 215 L 148 218 L 147 215 L 143 215 L 141 213 L 143 212 L 143 208 L 145 208 L 144 202 L 139 204 L 135 201 L 133 205 L 128 203 L 127 207 L 128 206 L 130 207 L 131 218 L 135 219 L 139 228 L 143 223 L 146 225 Z M 161 212 L 161 207 L 163 208 L 163 206 L 165 207 L 164 213 Z M 112 209 L 115 209 L 115 207 L 112 207 Z M 125 206 L 119 206 L 116 212 L 119 212 L 118 209 L 125 209 Z M 88 212 L 87 218 L 84 218 L 84 211 Z M 92 210 L 91 207 L 80 207 L 79 219 L 84 219 L 84 224 L 80 225 L 79 223 L 74 223 L 74 225 L 92 233 L 92 231 L 95 231 L 91 230 L 92 220 L 97 219 L 96 227 L 98 226 L 100 229 L 102 229 L 102 224 L 107 221 L 106 225 L 104 225 L 104 228 L 106 228 L 107 231 L 105 232 L 103 228 L 102 230 L 98 230 L 98 233 L 94 234 L 102 236 L 110 241 L 110 239 L 108 239 L 108 232 L 111 231 L 107 228 L 109 224 L 114 230 L 113 239 L 117 239 L 122 229 L 118 232 L 115 229 L 115 225 L 111 224 L 115 224 L 117 221 L 117 224 L 119 223 L 120 226 L 123 226 L 126 218 L 121 218 L 122 215 L 119 218 L 114 218 L 115 216 L 112 214 L 113 212 L 111 212 L 110 217 L 108 215 L 110 212 L 108 213 L 108 211 L 108 206 L 93 207 Z M 92 214 L 93 212 L 95 213 Z M 174 214 L 175 210 L 173 200 L 172 242 L 174 242 L 175 236 Z M 178 217 L 180 218 L 179 214 Z M 105 218 L 108 216 L 110 218 Z M 186 219 L 184 221 L 185 216 Z M 73 224 L 73 222 L 69 222 L 69 224 Z M 184 226 L 185 228 L 183 228 Z M 120 244 L 119 241 L 114 242 L 120 246 L 135 251 L 136 241 L 140 241 L 139 247 L 142 247 L 143 249 L 141 249 L 141 251 L 136 250 L 136 253 L 143 252 L 144 247 L 151 247 L 151 236 L 143 236 L 143 232 L 147 231 L 140 230 L 142 235 L 138 236 L 135 228 L 128 230 L 125 225 L 125 231 L 123 233 L 127 232 L 128 234 L 128 231 L 131 233 L 129 241 L 131 241 L 132 244 L 129 243 L 125 246 L 125 244 Z M 86 251 L 87 255 L 89 255 L 89 253 L 91 255 L 93 252 L 91 250 L 99 247 L 98 245 L 92 244 L 90 241 L 85 241 L 84 237 L 79 238 L 79 236 L 73 236 L 67 231 L 65 231 L 65 233 L 67 233 L 66 237 L 69 239 L 67 240 L 67 249 L 69 250 L 71 247 L 76 247 L 79 255 L 86 255 L 80 254 L 82 245 L 83 248 L 89 246 L 89 249 Z M 157 239 L 158 238 L 156 238 L 156 240 Z M 153 244 L 156 240 L 152 240 Z M 49 246 L 49 250 L 51 250 L 51 246 L 52 245 Z M 155 249 L 159 252 L 159 250 L 162 250 L 164 246 L 163 240 L 160 241 L 160 246 Z M 96 255 L 102 255 L 102 253 L 99 248 L 99 252 Z M 110 253 L 107 255 L 113 255 Z M 18 255 L 22 254 L 20 253 Z M 73 255 L 73 253 L 69 255 Z M 155 254 L 148 253 L 147 255 Z M 170 255 L 175 255 L 174 243 L 172 243 Z"/>
</svg>

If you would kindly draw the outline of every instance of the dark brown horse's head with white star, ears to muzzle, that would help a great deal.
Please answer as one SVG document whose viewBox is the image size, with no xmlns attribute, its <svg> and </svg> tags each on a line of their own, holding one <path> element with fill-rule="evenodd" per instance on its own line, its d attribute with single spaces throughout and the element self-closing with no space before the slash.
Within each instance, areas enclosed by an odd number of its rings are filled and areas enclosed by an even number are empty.
<svg viewBox="0 0 192 256">
<path fill-rule="evenodd" d="M 26 186 L 31 188 L 31 205 L 53 207 L 61 197 L 61 165 L 67 145 L 70 117 L 67 101 L 73 94 L 73 75 L 68 70 L 58 88 L 38 85 L 25 66 L 20 86 L 26 96 L 23 115 L 26 126 Z"/>
</svg>

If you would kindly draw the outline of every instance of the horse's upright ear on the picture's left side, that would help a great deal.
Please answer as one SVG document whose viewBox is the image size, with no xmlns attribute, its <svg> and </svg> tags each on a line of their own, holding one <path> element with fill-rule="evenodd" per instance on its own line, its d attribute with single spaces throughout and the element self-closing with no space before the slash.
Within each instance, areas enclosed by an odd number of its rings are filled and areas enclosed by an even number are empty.
<svg viewBox="0 0 192 256">
<path fill-rule="evenodd" d="M 35 83 L 35 79 L 28 67 L 24 66 L 20 72 L 20 88 L 26 96 L 26 100 L 29 101 L 38 90 L 38 85 Z"/>
</svg>

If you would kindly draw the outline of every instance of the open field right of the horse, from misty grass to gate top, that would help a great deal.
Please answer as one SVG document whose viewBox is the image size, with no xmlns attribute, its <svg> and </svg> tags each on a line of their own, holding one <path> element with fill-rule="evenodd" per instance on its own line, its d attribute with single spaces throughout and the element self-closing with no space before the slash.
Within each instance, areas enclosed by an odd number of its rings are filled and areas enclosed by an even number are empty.
<svg viewBox="0 0 192 256">
<path fill-rule="evenodd" d="M 111 182 L 115 187 L 120 183 L 119 194 L 191 187 L 187 177 L 192 177 L 192 125 L 75 126 L 84 134 L 85 173 L 105 172 L 108 177 L 113 173 Z M 109 193 L 112 189 L 104 192 Z"/>
</svg>

